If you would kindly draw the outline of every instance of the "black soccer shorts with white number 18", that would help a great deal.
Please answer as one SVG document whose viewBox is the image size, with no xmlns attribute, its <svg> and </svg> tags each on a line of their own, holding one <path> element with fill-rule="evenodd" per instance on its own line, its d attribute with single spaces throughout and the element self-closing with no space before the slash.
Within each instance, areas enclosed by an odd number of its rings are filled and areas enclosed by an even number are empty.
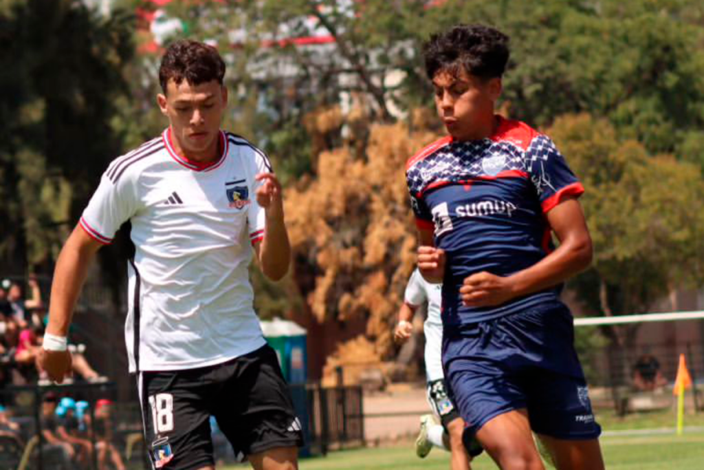
<svg viewBox="0 0 704 470">
<path fill-rule="evenodd" d="M 211 415 L 239 457 L 303 445 L 301 421 L 269 345 L 215 366 L 142 372 L 139 394 L 156 469 L 214 465 Z"/>
</svg>

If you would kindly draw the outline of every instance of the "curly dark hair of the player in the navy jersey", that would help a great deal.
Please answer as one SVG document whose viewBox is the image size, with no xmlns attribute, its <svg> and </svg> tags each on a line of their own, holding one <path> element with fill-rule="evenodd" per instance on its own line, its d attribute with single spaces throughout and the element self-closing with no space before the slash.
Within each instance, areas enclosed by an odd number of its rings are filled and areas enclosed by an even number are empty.
<svg viewBox="0 0 704 470">
<path fill-rule="evenodd" d="M 508 55 L 508 36 L 485 25 L 456 25 L 432 35 L 423 47 L 430 80 L 440 71 L 456 75 L 460 70 L 484 80 L 501 77 Z"/>
</svg>

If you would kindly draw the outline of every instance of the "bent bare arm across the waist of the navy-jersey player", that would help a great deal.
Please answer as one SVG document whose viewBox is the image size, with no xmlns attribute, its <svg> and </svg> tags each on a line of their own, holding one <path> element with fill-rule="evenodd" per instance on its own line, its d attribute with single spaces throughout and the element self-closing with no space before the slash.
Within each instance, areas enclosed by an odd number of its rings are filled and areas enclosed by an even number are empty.
<svg viewBox="0 0 704 470">
<path fill-rule="evenodd" d="M 570 197 L 546 214 L 560 246 L 533 266 L 512 276 L 483 271 L 465 278 L 460 295 L 465 305 L 487 307 L 564 282 L 591 264 L 591 237 L 579 201 Z"/>
</svg>

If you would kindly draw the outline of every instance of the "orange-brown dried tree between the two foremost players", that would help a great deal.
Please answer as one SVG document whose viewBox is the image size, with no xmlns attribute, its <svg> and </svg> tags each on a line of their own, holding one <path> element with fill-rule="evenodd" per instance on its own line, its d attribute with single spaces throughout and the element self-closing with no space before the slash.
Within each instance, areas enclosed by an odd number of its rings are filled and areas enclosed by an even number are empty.
<svg viewBox="0 0 704 470">
<path fill-rule="evenodd" d="M 301 295 L 320 323 L 365 319 L 366 330 L 359 333 L 374 343 L 379 358 L 394 352 L 391 329 L 415 264 L 403 169 L 433 137 L 410 134 L 401 123 L 373 125 L 366 158 L 348 146 L 323 151 L 317 178 L 287 191 Z"/>
</svg>

